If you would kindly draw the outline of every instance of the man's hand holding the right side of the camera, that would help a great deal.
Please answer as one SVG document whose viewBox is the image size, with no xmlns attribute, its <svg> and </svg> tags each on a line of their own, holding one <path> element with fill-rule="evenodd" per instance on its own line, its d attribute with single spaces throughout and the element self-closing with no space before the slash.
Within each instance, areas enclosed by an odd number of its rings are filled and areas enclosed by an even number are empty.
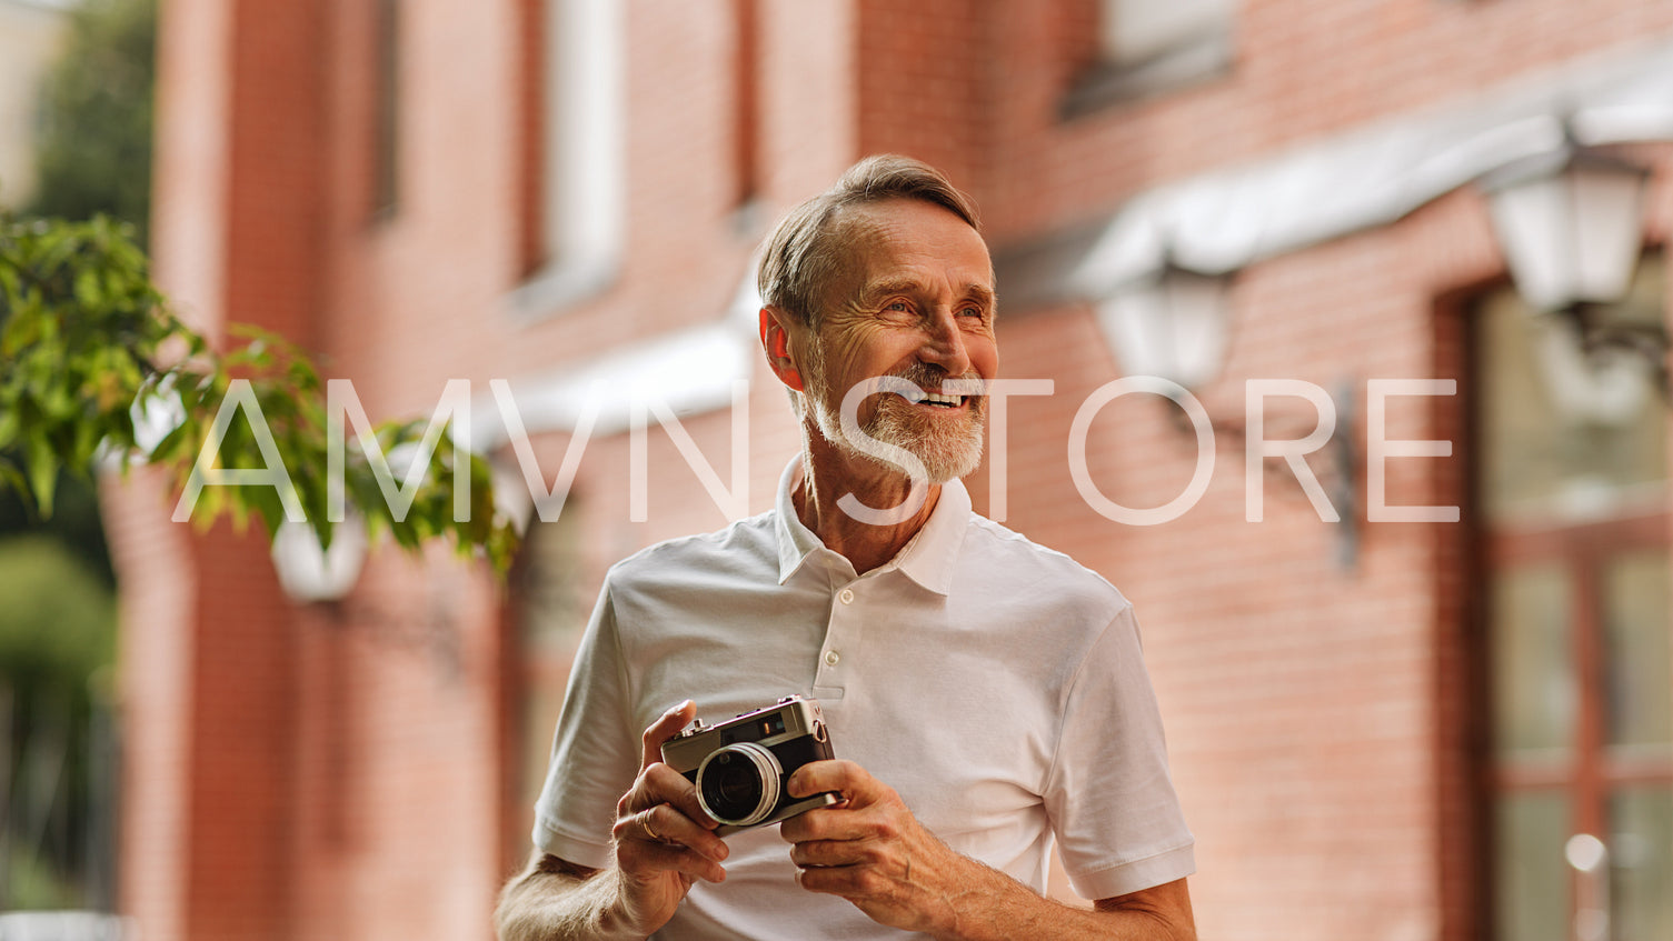
<svg viewBox="0 0 1673 941">
<path fill-rule="evenodd" d="M 836 791 L 845 799 L 790 817 L 780 836 L 793 842 L 790 859 L 803 889 L 842 896 L 872 921 L 937 933 L 967 889 L 957 869 L 969 861 L 935 839 L 900 796 L 850 760 L 800 767 L 786 784 L 791 797 Z"/>
</svg>

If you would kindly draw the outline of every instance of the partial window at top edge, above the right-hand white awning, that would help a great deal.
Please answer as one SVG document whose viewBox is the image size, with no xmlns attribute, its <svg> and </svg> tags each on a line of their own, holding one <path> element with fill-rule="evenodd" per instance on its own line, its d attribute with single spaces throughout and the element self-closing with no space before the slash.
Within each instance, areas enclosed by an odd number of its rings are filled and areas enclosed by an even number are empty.
<svg viewBox="0 0 1673 941">
<path fill-rule="evenodd" d="M 1235 0 L 1097 0 L 1099 62 L 1066 110 L 1153 95 L 1231 65 Z"/>
</svg>

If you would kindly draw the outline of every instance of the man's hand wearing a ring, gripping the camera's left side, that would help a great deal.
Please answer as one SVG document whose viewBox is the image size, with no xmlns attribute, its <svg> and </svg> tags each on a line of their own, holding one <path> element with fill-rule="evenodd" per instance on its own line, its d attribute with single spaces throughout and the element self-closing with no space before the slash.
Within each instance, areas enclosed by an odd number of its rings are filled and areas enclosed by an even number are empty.
<svg viewBox="0 0 1673 941">
<path fill-rule="evenodd" d="M 698 802 L 698 791 L 663 764 L 663 742 L 696 717 L 688 699 L 644 730 L 639 777 L 616 804 L 616 877 L 631 931 L 651 934 L 668 924 L 696 879 L 721 883 L 726 844 Z"/>
</svg>

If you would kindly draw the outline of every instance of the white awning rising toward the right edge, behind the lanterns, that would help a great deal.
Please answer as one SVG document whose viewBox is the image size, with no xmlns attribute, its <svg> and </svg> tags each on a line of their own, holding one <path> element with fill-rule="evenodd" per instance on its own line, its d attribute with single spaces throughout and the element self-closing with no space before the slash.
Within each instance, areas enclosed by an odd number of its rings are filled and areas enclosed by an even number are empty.
<svg viewBox="0 0 1673 941">
<path fill-rule="evenodd" d="M 1569 62 L 1462 104 L 1402 115 L 1133 197 L 1066 292 L 1106 298 L 1171 257 L 1206 274 L 1390 224 L 1479 175 L 1563 144 L 1673 140 L 1673 43 Z"/>
</svg>

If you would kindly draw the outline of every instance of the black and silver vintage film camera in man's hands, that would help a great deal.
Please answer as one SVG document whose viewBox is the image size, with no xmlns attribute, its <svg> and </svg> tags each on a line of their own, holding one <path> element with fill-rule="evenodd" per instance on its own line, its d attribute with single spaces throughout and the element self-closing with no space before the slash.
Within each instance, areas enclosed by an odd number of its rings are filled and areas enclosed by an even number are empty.
<svg viewBox="0 0 1673 941">
<path fill-rule="evenodd" d="M 716 834 L 776 824 L 842 799 L 836 792 L 801 801 L 785 781 L 801 766 L 836 757 L 825 715 L 813 699 L 790 695 L 719 725 L 696 725 L 663 742 L 663 762 L 684 774 L 703 809 L 719 821 Z"/>
</svg>

